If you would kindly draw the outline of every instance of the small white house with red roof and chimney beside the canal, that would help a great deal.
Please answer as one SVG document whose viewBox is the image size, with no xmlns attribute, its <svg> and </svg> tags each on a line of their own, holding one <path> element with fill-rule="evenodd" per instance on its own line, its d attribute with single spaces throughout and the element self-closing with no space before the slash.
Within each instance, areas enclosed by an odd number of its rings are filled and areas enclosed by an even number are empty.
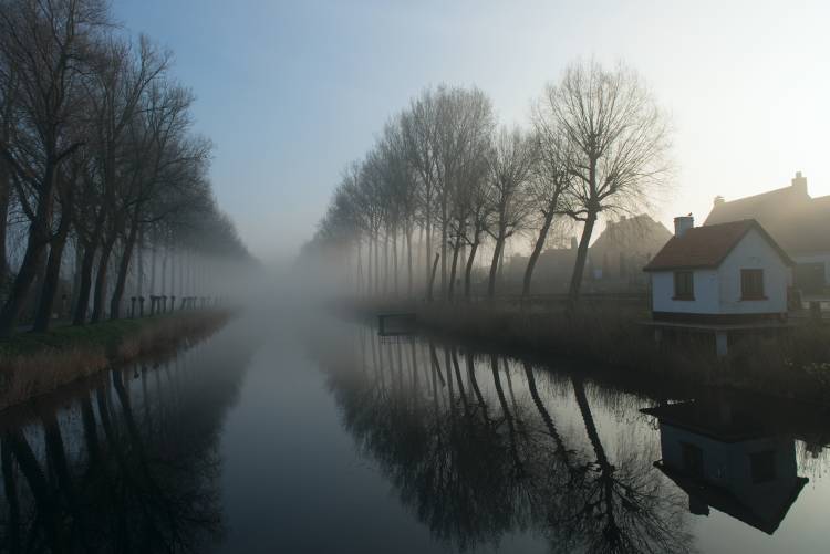
<svg viewBox="0 0 830 554">
<path fill-rule="evenodd" d="M 675 234 L 644 268 L 655 321 L 744 323 L 782 318 L 792 260 L 754 219 L 694 227 Z"/>
</svg>

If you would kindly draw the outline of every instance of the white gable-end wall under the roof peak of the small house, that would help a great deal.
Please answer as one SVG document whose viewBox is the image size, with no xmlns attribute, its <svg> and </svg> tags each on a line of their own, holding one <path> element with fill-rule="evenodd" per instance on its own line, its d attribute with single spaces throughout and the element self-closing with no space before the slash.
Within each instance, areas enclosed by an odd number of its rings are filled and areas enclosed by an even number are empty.
<svg viewBox="0 0 830 554">
<path fill-rule="evenodd" d="M 764 270 L 766 300 L 740 300 L 740 270 Z M 719 312 L 724 314 L 771 314 L 787 312 L 790 269 L 778 252 L 755 229 L 729 252 L 718 268 Z"/>
</svg>

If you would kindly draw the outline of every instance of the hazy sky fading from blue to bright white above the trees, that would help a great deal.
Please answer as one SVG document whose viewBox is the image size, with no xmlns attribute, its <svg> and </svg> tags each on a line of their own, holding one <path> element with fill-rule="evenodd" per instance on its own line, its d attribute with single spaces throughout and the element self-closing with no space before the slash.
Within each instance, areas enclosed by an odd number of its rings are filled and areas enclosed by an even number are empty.
<svg viewBox="0 0 830 554">
<path fill-rule="evenodd" d="M 728 6 L 727 6 L 728 3 Z M 176 54 L 216 144 L 221 207 L 262 259 L 314 230 L 341 169 L 424 86 L 478 85 L 500 121 L 575 58 L 622 59 L 672 116 L 675 190 L 655 215 L 789 184 L 830 194 L 830 3 L 115 0 Z M 670 226 L 671 228 L 671 226 Z"/>
</svg>

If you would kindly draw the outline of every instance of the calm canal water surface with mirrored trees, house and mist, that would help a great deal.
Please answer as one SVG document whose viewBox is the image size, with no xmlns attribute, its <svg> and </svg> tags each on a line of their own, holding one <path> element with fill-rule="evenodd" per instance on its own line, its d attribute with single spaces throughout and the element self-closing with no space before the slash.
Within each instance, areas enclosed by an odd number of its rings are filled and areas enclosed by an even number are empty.
<svg viewBox="0 0 830 554">
<path fill-rule="evenodd" d="M 0 415 L 2 550 L 828 552 L 826 414 L 579 375 L 242 317 Z"/>
</svg>

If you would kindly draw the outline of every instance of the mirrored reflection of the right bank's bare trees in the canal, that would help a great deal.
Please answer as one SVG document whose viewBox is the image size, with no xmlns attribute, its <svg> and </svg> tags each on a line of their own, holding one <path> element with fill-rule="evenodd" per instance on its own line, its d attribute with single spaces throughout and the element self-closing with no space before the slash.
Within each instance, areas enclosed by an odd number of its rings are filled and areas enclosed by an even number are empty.
<svg viewBox="0 0 830 554">
<path fill-rule="evenodd" d="M 640 399 L 496 355 L 359 333 L 353 356 L 322 360 L 329 387 L 362 453 L 437 540 L 465 551 L 532 532 L 553 552 L 692 550 L 685 496 L 652 466 L 655 433 L 614 436 L 609 450 L 598 428 L 598 406 L 636 414 Z M 406 366 L 393 355 L 404 348 Z"/>
</svg>

